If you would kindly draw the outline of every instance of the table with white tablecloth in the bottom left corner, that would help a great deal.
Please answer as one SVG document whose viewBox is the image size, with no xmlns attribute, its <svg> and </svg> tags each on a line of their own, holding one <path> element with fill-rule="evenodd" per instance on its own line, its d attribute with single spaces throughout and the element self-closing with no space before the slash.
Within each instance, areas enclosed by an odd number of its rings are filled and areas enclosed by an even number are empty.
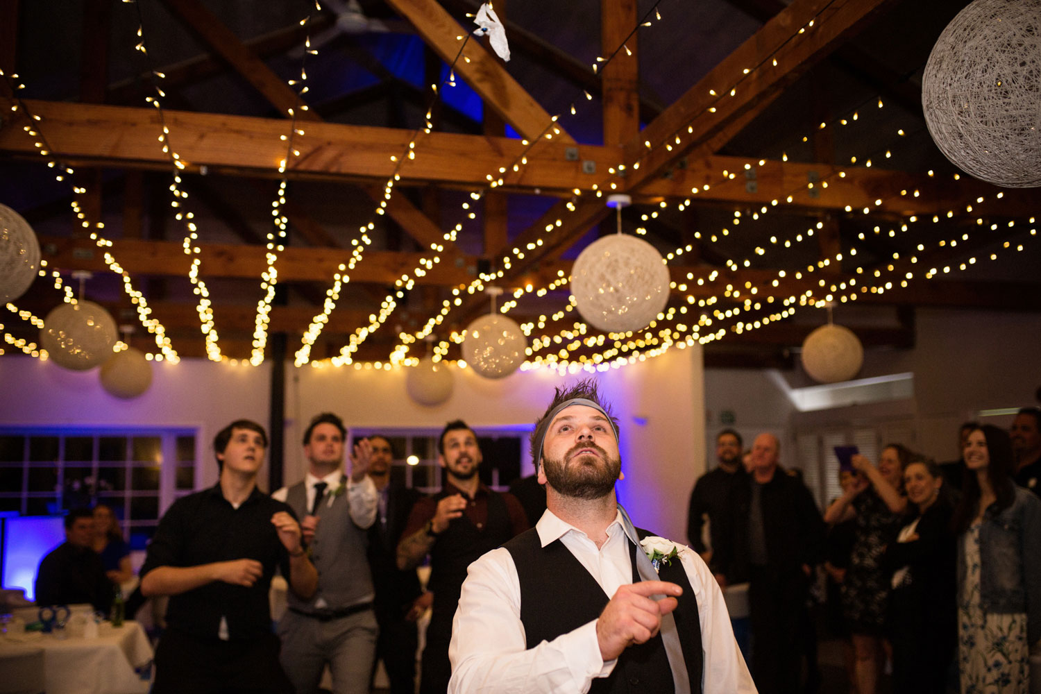
<svg viewBox="0 0 1041 694">
<path fill-rule="evenodd" d="M 26 688 L 8 680 L 0 690 L 5 692 L 32 691 L 40 676 L 33 668 L 41 666 L 47 694 L 147 694 L 151 686 L 148 666 L 152 645 L 135 621 L 126 621 L 122 626 L 102 622 L 95 638 L 58 638 L 54 634 L 2 638 L 0 661 L 21 661 L 25 666 L 18 671 Z"/>
</svg>

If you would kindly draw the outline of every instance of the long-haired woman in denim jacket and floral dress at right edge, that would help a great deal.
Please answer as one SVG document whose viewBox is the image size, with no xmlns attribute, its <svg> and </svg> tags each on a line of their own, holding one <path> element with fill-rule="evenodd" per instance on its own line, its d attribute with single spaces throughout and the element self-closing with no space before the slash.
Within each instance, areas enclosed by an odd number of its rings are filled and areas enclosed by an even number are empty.
<svg viewBox="0 0 1041 694">
<path fill-rule="evenodd" d="M 1009 435 L 984 425 L 964 447 L 958 533 L 958 664 L 962 694 L 1030 686 L 1041 639 L 1041 500 L 1012 482 Z"/>
</svg>

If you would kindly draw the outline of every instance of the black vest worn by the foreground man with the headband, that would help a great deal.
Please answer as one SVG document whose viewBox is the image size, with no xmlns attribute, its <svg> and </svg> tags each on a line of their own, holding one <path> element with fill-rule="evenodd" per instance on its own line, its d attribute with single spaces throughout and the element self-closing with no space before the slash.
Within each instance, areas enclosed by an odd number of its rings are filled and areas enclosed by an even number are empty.
<svg viewBox="0 0 1041 694">
<path fill-rule="evenodd" d="M 640 538 L 650 533 L 637 529 Z M 629 542 L 629 558 L 633 566 L 633 583 L 640 581 L 636 569 L 636 545 Z M 538 533 L 531 529 L 507 542 L 520 583 L 520 621 L 524 623 L 528 648 L 542 641 L 552 641 L 600 617 L 610 600 L 604 589 L 560 540 L 542 547 Z M 683 588 L 679 606 L 672 612 L 680 636 L 680 645 L 690 678 L 690 691 L 702 691 L 702 629 L 697 599 L 679 560 L 662 564 L 659 576 Z M 668 656 L 661 635 L 646 643 L 626 648 L 608 677 L 594 678 L 590 692 L 634 694 L 675 691 Z"/>
</svg>

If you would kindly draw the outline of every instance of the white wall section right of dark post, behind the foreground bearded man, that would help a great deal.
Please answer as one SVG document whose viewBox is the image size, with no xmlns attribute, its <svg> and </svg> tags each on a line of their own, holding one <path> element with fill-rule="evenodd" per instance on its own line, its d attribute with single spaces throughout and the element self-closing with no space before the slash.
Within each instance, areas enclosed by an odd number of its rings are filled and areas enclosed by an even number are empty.
<svg viewBox="0 0 1041 694">
<path fill-rule="evenodd" d="M 404 370 L 290 369 L 286 401 L 286 480 L 304 473 L 300 440 L 314 413 L 336 412 L 349 427 L 430 427 L 451 419 L 469 426 L 530 425 L 545 410 L 554 388 L 580 376 L 539 369 L 490 381 L 473 369 L 452 367 L 452 396 L 436 407 L 411 401 Z M 657 359 L 598 374 L 621 433 L 626 479 L 619 496 L 634 521 L 678 539 L 685 535 L 687 503 L 705 469 L 704 384 L 701 348 L 670 350 Z M 526 461 L 526 473 L 533 471 Z M 630 508 L 632 507 L 632 508 Z"/>
</svg>

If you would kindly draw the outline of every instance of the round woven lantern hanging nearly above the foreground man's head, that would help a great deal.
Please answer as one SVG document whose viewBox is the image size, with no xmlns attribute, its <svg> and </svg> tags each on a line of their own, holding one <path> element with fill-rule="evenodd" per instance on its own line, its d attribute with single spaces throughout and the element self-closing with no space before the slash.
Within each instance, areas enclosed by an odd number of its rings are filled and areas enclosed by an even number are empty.
<svg viewBox="0 0 1041 694">
<path fill-rule="evenodd" d="M 642 238 L 612 234 L 586 247 L 572 267 L 582 317 L 604 332 L 640 330 L 668 303 L 668 267 Z"/>
</svg>

